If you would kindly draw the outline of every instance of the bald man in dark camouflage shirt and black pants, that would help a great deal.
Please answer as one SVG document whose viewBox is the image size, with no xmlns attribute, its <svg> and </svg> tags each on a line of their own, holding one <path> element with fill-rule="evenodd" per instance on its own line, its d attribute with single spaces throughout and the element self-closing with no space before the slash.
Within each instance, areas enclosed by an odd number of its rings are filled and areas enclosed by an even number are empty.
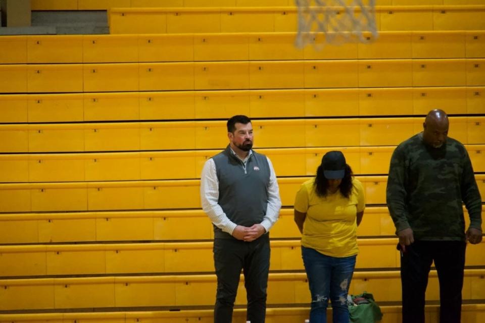
<svg viewBox="0 0 485 323">
<path fill-rule="evenodd" d="M 440 281 L 440 322 L 459 323 L 466 241 L 482 239 L 481 198 L 465 147 L 448 136 L 448 116 L 433 110 L 423 132 L 391 158 L 387 207 L 401 250 L 403 323 L 424 323 L 432 261 Z M 465 233 L 462 202 L 470 216 Z"/>
</svg>

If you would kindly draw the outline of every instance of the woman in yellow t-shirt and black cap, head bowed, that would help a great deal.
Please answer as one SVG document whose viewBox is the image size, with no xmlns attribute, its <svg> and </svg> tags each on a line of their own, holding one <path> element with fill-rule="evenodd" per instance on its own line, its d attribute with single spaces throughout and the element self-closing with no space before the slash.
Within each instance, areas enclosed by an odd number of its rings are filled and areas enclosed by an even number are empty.
<svg viewBox="0 0 485 323">
<path fill-rule="evenodd" d="M 317 176 L 295 198 L 295 222 L 302 233 L 302 257 L 312 295 L 311 323 L 348 323 L 347 294 L 355 268 L 357 226 L 364 215 L 364 190 L 341 151 L 329 151 Z"/>
</svg>

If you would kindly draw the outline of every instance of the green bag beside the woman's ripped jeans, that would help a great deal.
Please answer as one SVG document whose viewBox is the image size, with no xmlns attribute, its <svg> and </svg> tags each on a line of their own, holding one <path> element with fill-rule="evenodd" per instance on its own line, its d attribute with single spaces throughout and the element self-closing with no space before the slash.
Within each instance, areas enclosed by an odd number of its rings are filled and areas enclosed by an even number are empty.
<svg viewBox="0 0 485 323">
<path fill-rule="evenodd" d="M 375 323 L 382 318 L 382 312 L 375 303 L 374 296 L 367 292 L 352 295 L 352 303 L 349 302 L 349 313 L 350 321 L 353 323 Z"/>
</svg>

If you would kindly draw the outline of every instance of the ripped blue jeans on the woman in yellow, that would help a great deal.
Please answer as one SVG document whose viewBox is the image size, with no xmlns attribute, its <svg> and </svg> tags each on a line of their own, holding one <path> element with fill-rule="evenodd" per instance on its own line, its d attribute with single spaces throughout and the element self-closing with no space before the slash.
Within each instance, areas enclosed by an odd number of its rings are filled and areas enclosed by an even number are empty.
<svg viewBox="0 0 485 323">
<path fill-rule="evenodd" d="M 333 323 L 349 323 L 347 295 L 356 256 L 331 257 L 302 246 L 302 257 L 312 294 L 310 323 L 327 322 L 328 300 L 332 303 Z"/>
</svg>

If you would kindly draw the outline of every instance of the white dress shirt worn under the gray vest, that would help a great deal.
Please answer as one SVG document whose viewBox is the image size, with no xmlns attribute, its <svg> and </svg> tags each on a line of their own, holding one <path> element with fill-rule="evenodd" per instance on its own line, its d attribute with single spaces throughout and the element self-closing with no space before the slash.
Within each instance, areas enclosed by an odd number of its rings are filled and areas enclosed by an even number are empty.
<svg viewBox="0 0 485 323">
<path fill-rule="evenodd" d="M 243 167 L 246 173 L 246 163 L 249 157 L 253 154 L 250 150 L 248 156 L 244 159 L 240 158 L 232 149 L 231 152 L 243 162 Z M 274 173 L 271 160 L 268 160 L 270 169 L 269 186 L 268 186 L 268 206 L 266 214 L 261 222 L 266 232 L 271 229 L 274 223 L 278 220 L 279 209 L 281 208 L 281 199 L 279 197 L 279 187 L 276 181 L 276 174 Z M 212 223 L 220 228 L 223 232 L 232 235 L 234 228 L 237 226 L 234 222 L 227 218 L 226 214 L 219 205 L 219 180 L 217 179 L 216 164 L 212 158 L 206 161 L 201 175 L 201 201 L 202 209 L 207 213 Z"/>
</svg>

